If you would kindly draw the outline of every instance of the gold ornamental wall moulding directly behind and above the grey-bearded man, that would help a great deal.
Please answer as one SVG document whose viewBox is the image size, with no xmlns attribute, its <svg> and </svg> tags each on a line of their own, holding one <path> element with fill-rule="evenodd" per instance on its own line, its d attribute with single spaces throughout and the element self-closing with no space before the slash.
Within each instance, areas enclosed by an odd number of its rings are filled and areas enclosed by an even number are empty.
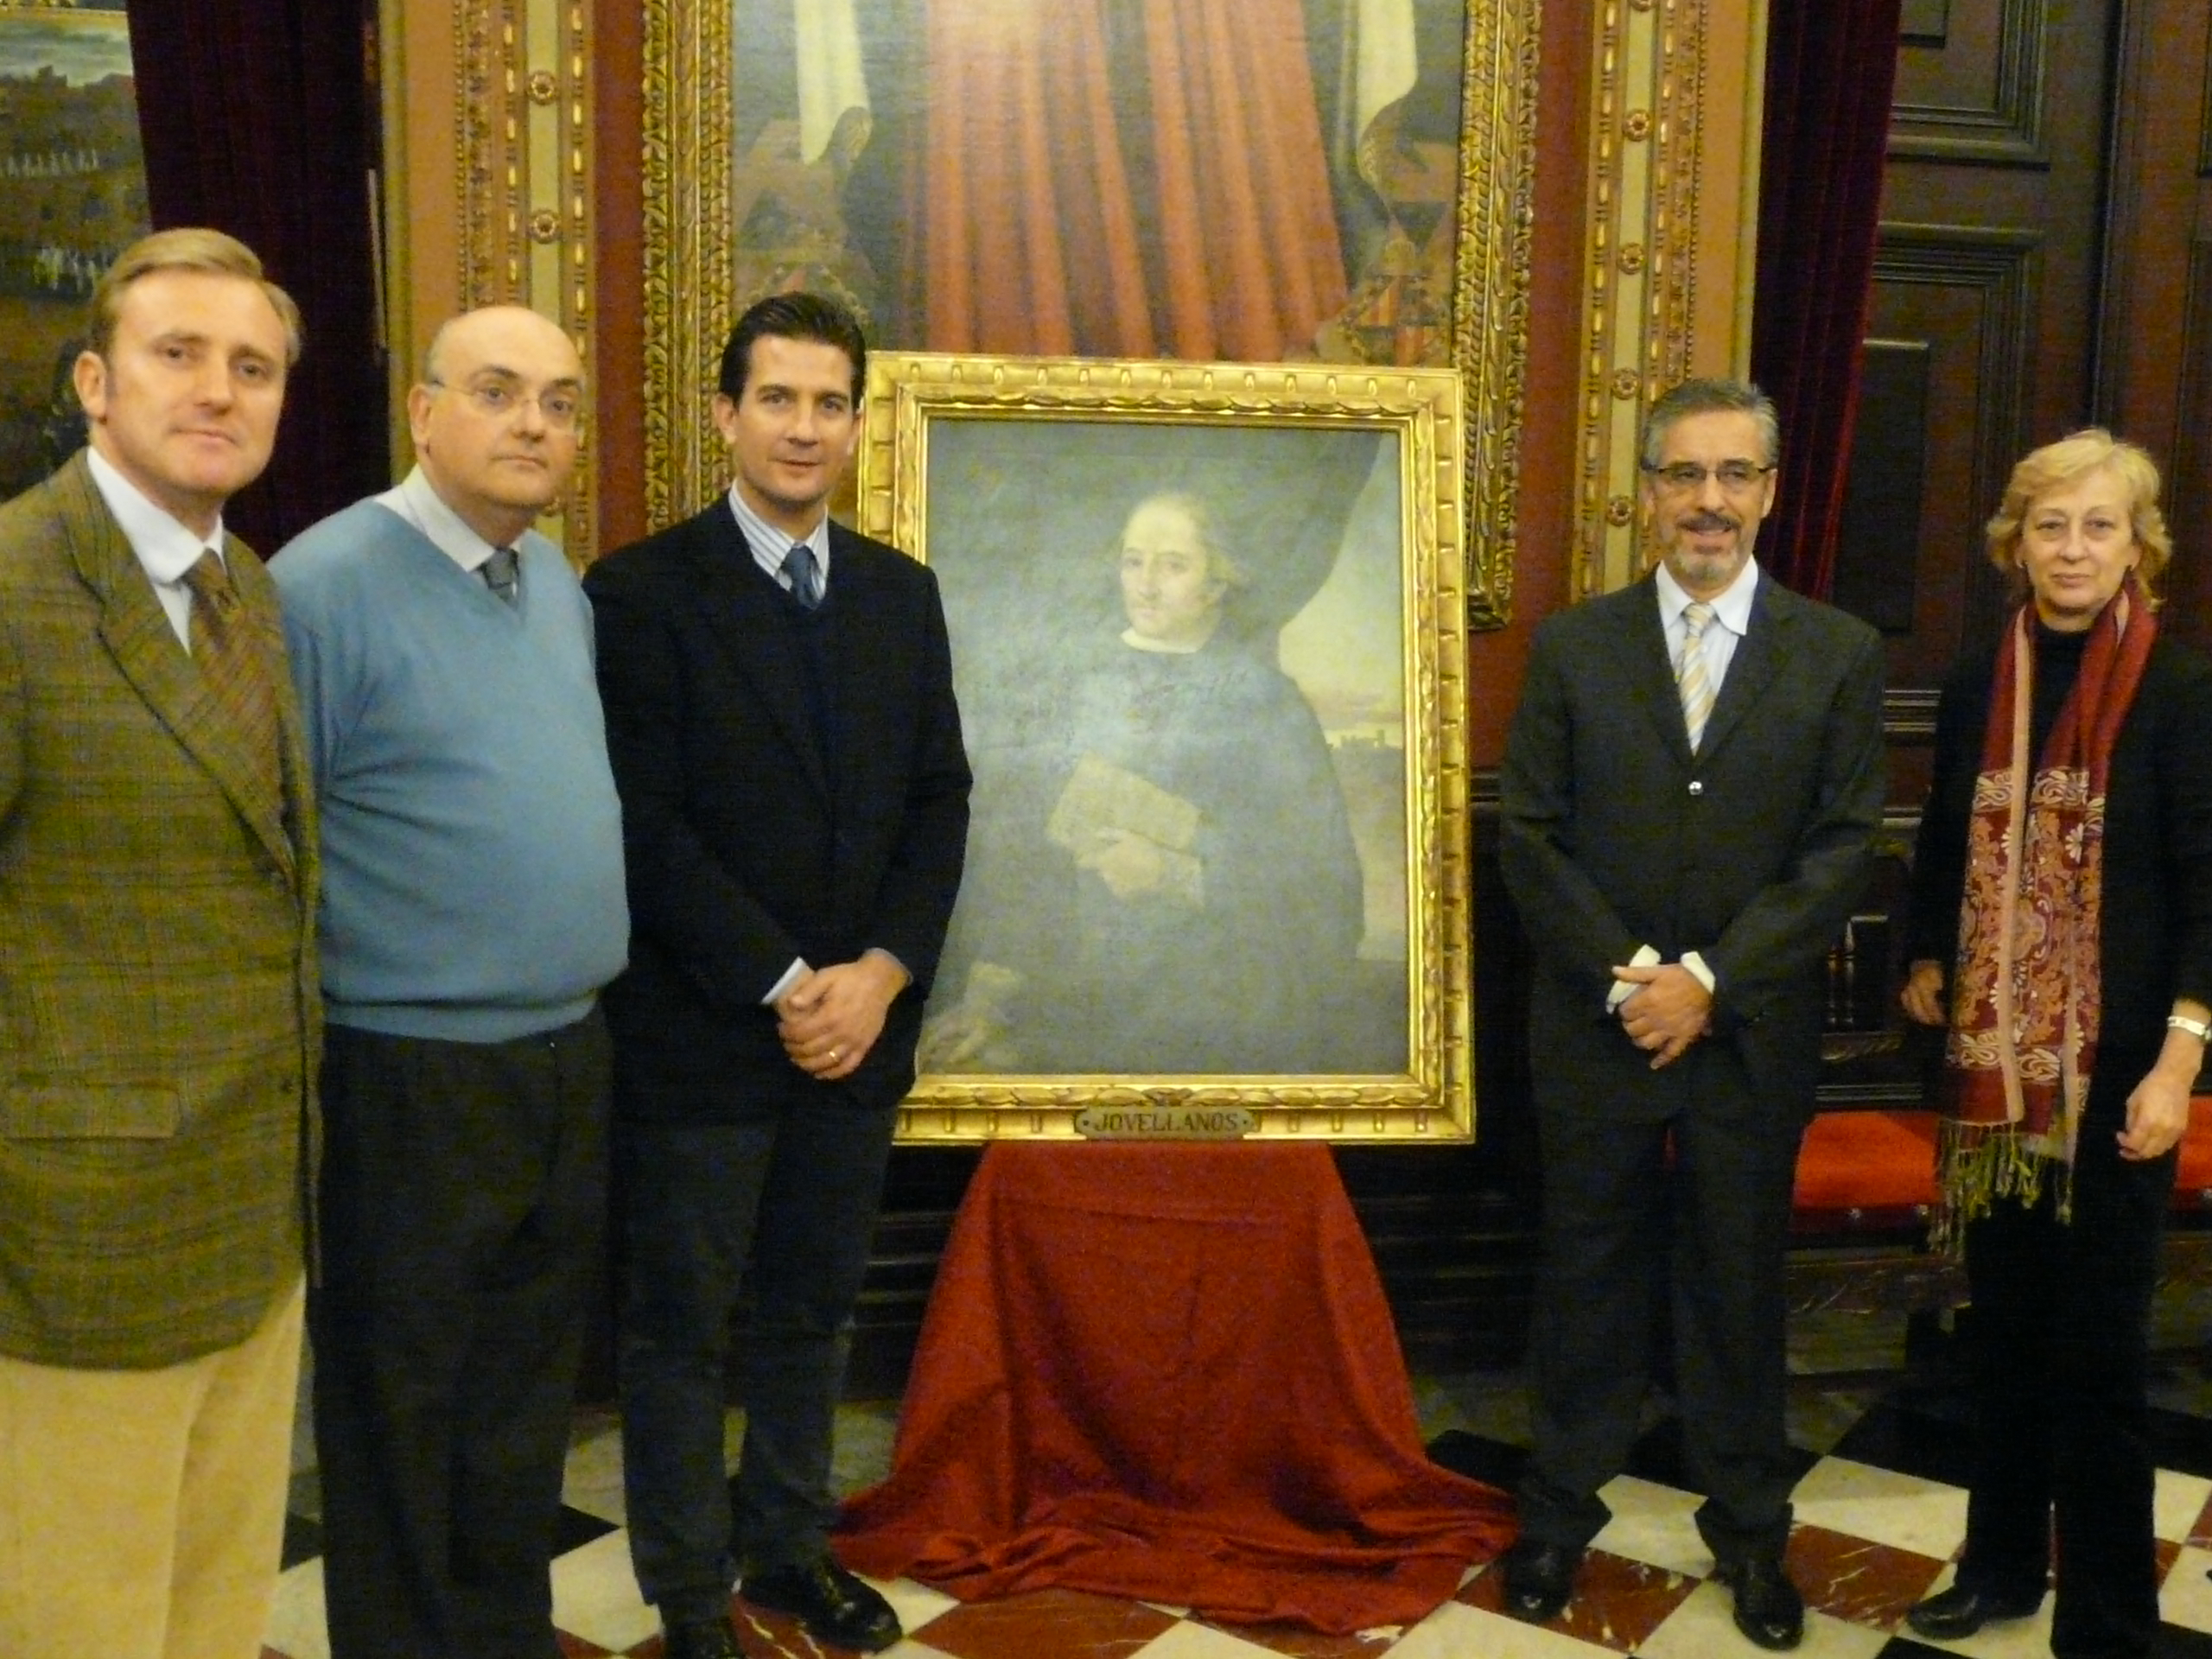
<svg viewBox="0 0 2212 1659">
<path fill-rule="evenodd" d="M 1765 0 L 1599 0 L 1573 593 L 1644 573 L 1646 403 L 1750 358 Z"/>
</svg>

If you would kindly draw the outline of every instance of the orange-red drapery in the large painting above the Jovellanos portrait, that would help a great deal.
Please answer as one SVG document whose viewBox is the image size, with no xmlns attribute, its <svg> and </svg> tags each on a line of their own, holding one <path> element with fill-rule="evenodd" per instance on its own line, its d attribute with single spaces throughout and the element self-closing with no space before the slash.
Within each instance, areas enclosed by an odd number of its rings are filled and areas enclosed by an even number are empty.
<svg viewBox="0 0 2212 1659">
<path fill-rule="evenodd" d="M 927 73 L 931 349 L 1276 361 L 1343 307 L 1298 0 L 933 0 Z"/>
</svg>

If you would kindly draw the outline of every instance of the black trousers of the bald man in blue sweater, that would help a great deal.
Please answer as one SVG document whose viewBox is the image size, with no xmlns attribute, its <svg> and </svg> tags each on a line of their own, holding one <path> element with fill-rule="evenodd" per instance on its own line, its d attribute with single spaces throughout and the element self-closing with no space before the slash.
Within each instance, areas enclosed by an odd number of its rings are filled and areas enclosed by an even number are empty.
<svg viewBox="0 0 2212 1659">
<path fill-rule="evenodd" d="M 549 1564 L 606 1217 L 599 1013 L 332 1026 L 314 1442 L 332 1659 L 553 1659 Z"/>
</svg>

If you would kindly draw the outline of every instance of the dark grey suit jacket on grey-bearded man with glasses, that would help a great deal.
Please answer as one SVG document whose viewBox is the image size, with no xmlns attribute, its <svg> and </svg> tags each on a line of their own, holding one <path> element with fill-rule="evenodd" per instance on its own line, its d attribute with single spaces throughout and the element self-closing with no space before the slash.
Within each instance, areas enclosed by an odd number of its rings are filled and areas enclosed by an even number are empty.
<svg viewBox="0 0 2212 1659">
<path fill-rule="evenodd" d="M 1878 635 L 1761 573 L 1692 757 L 1655 584 L 1577 604 L 1537 630 L 1500 787 L 1542 1099 L 1672 1110 L 1674 1068 L 1652 1073 L 1606 1013 L 1610 967 L 1652 945 L 1703 953 L 1705 1042 L 1734 1044 L 1761 1097 L 1809 1110 L 1823 960 L 1882 814 Z"/>
</svg>

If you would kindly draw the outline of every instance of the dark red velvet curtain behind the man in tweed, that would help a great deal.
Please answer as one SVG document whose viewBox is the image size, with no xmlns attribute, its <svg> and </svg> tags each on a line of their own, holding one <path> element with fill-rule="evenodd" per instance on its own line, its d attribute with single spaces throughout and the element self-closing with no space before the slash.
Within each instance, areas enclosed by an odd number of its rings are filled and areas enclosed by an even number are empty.
<svg viewBox="0 0 2212 1659">
<path fill-rule="evenodd" d="M 372 11 L 349 0 L 131 0 L 155 228 L 228 230 L 305 319 L 276 453 L 223 515 L 263 555 L 389 482 L 369 239 Z"/>
</svg>

